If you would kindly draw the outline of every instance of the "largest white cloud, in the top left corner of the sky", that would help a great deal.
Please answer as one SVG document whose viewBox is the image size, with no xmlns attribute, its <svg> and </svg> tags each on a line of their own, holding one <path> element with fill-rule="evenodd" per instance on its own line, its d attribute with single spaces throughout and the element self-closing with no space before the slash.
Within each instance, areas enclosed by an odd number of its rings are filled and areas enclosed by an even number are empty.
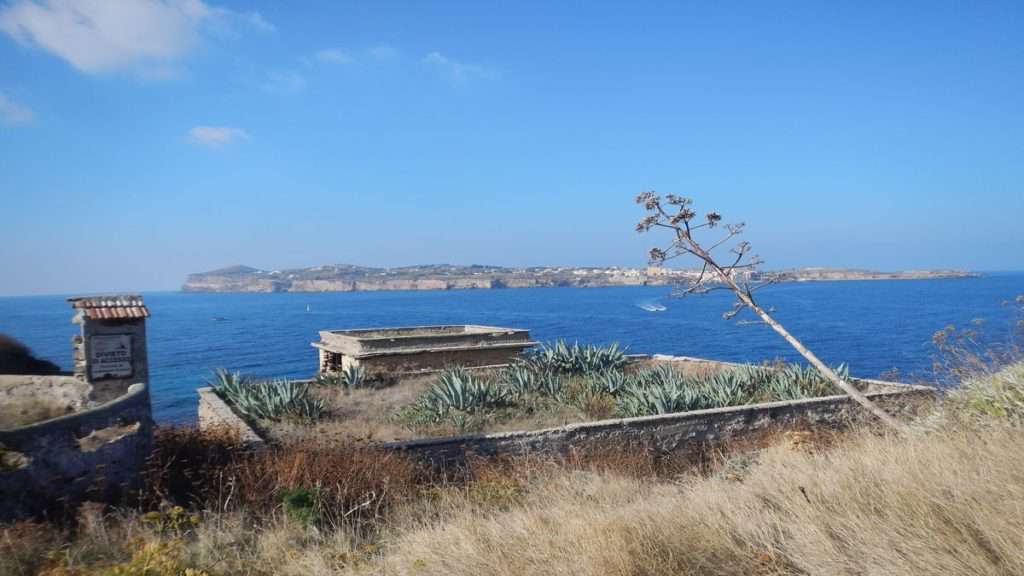
<svg viewBox="0 0 1024 576">
<path fill-rule="evenodd" d="M 95 74 L 180 58 L 204 23 L 240 19 L 273 30 L 259 12 L 202 0 L 13 0 L 0 7 L 0 32 Z"/>
</svg>

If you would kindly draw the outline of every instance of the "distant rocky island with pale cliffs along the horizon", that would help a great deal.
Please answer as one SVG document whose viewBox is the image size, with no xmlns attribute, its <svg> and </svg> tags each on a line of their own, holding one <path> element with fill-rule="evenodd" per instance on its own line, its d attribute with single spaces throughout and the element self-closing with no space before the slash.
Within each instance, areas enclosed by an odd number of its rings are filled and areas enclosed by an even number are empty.
<svg viewBox="0 0 1024 576">
<path fill-rule="evenodd" d="M 810 282 L 841 280 L 929 280 L 972 278 L 971 272 L 903 271 L 803 268 L 757 272 L 754 280 Z M 503 268 L 492 265 L 429 264 L 402 268 L 368 268 L 327 264 L 313 268 L 266 271 L 236 265 L 191 274 L 184 292 L 355 292 L 373 290 L 461 290 L 469 288 L 539 288 L 598 286 L 659 286 L 684 282 L 697 270 L 648 268 Z"/>
</svg>

